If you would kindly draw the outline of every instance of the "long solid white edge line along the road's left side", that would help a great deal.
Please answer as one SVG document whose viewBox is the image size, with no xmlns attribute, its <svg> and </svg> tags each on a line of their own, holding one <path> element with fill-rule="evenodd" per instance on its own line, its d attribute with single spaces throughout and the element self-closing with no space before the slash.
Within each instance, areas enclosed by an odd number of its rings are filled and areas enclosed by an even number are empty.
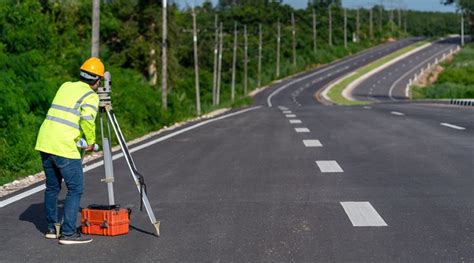
<svg viewBox="0 0 474 263">
<path fill-rule="evenodd" d="M 215 121 L 219 121 L 219 120 L 222 120 L 222 119 L 226 119 L 226 118 L 229 118 L 229 117 L 232 117 L 232 116 L 236 116 L 236 115 L 239 115 L 239 114 L 242 114 L 242 113 L 245 113 L 245 112 L 248 112 L 248 111 L 253 111 L 253 110 L 257 110 L 257 109 L 260 109 L 262 106 L 256 106 L 256 107 L 252 107 L 252 108 L 248 108 L 248 109 L 244 109 L 244 110 L 240 110 L 240 111 L 236 111 L 236 112 L 233 112 L 233 113 L 229 113 L 229 114 L 225 114 L 225 115 L 222 115 L 220 117 L 217 117 L 217 118 L 213 118 L 213 119 L 209 119 L 209 120 L 206 120 L 206 121 L 203 121 L 203 122 L 200 122 L 200 123 L 197 123 L 195 125 L 192 125 L 192 126 L 189 126 L 187 128 L 184 128 L 184 129 L 181 129 L 179 131 L 176 131 L 176 132 L 173 132 L 173 133 L 170 133 L 168 135 L 165 135 L 163 137 L 160 137 L 160 138 L 157 138 L 155 140 L 152 140 L 152 141 L 149 141 L 147 143 L 144 143 L 144 144 L 141 144 L 141 145 L 138 145 L 136 147 L 133 147 L 133 148 L 130 148 L 130 152 L 133 153 L 133 152 L 136 152 L 136 151 L 139 151 L 141 149 L 144 149 L 144 148 L 147 148 L 153 144 L 156 144 L 158 142 L 161 142 L 161 141 L 165 141 L 169 138 L 172 138 L 174 136 L 177 136 L 179 134 L 182 134 L 182 133 L 185 133 L 187 131 L 190 131 L 190 130 L 193 130 L 193 129 L 196 129 L 198 127 L 201 127 L 201 126 L 204 126 L 206 124 L 209 124 L 209 123 L 212 123 L 212 122 L 215 122 Z M 112 156 L 112 159 L 113 160 L 116 160 L 116 159 L 119 159 L 123 157 L 123 153 L 118 153 L 118 154 L 114 154 Z M 92 169 L 95 169 L 99 166 L 102 166 L 104 164 L 104 161 L 100 161 L 100 162 L 97 162 L 97 163 L 94 163 L 92 165 L 88 165 L 88 166 L 85 166 L 84 167 L 84 173 L 85 172 L 88 172 Z M 11 203 L 14 203 L 16 201 L 19 201 L 25 197 L 28 197 L 30 195 L 33 195 L 35 193 L 38 193 L 42 190 L 45 189 L 45 186 L 44 185 L 40 185 L 40 186 L 37 186 L 35 188 L 32 188 L 26 192 L 23 192 L 21 194 L 18 194 L 18 195 L 14 195 L 8 199 L 5 199 L 3 201 L 0 201 L 0 208 L 4 207 L 4 206 L 7 206 Z"/>
</svg>

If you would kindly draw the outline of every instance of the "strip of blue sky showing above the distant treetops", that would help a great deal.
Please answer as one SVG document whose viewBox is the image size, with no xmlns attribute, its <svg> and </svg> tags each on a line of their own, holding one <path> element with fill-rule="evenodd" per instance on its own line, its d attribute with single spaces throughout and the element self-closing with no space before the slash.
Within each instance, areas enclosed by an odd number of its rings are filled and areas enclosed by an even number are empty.
<svg viewBox="0 0 474 263">
<path fill-rule="evenodd" d="M 178 3 L 185 2 L 192 4 L 201 4 L 203 0 L 175 0 Z M 212 0 L 213 3 L 216 3 L 217 0 Z M 308 0 L 283 0 L 284 3 L 290 4 L 296 8 L 306 8 Z M 421 11 L 439 11 L 439 12 L 455 12 L 456 7 L 454 5 L 445 6 L 441 4 L 441 0 L 342 0 L 342 5 L 345 7 L 358 7 L 365 6 L 370 7 L 373 3 L 383 2 L 385 6 L 390 7 L 390 5 L 399 6 L 400 3 L 402 6 L 407 9 L 412 10 L 421 10 Z"/>
</svg>

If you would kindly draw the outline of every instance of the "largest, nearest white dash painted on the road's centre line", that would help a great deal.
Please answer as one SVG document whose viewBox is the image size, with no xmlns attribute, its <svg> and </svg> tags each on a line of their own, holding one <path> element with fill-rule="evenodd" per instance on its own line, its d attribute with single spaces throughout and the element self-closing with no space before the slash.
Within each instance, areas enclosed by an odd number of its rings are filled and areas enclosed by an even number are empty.
<svg viewBox="0 0 474 263">
<path fill-rule="evenodd" d="M 353 226 L 387 226 L 369 202 L 341 202 Z"/>
</svg>

